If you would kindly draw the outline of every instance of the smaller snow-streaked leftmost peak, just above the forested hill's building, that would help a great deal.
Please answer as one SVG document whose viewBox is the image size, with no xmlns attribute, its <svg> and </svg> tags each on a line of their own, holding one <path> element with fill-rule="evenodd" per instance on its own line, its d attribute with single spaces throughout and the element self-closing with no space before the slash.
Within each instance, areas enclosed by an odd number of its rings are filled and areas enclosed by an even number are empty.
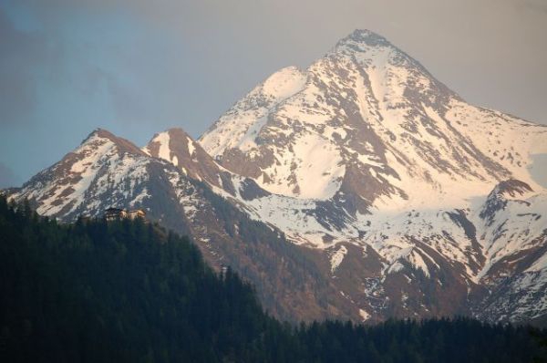
<svg viewBox="0 0 547 363">
<path fill-rule="evenodd" d="M 150 197 L 142 182 L 150 179 L 150 166 L 150 158 L 128 140 L 98 129 L 12 196 L 33 201 L 37 213 L 67 219 L 120 197 L 133 207 Z"/>
</svg>

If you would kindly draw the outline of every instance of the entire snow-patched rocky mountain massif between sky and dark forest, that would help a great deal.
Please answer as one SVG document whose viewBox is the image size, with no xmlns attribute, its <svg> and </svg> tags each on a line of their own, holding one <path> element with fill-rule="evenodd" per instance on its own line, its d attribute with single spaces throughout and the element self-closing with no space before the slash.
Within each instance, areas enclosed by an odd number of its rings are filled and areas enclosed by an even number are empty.
<svg viewBox="0 0 547 363">
<path fill-rule="evenodd" d="M 172 129 L 140 150 L 97 130 L 11 195 L 65 221 L 144 208 L 286 318 L 542 321 L 547 191 L 527 168 L 544 140 L 357 30 L 198 141 Z"/>
</svg>

